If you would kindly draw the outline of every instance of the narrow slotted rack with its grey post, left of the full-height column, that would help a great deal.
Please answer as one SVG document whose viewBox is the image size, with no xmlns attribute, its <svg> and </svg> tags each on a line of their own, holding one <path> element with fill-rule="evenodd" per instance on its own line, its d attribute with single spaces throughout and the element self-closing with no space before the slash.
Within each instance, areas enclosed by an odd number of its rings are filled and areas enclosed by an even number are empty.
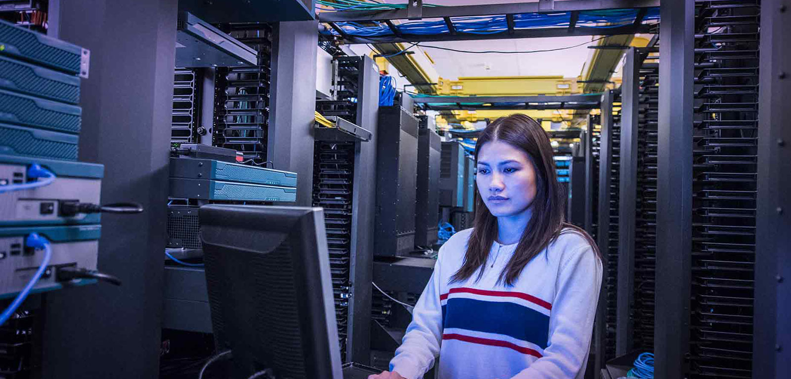
<svg viewBox="0 0 791 379">
<path fill-rule="evenodd" d="M 655 49 L 630 49 L 624 62 L 620 144 L 616 351 L 653 351 L 657 257 Z"/>
</svg>

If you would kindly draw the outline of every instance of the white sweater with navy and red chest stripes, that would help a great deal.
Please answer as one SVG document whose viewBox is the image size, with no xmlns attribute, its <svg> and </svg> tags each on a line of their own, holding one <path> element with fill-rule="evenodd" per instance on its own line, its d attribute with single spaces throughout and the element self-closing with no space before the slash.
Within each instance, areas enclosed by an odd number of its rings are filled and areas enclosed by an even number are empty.
<svg viewBox="0 0 791 379">
<path fill-rule="evenodd" d="M 417 379 L 438 355 L 441 379 L 581 378 L 602 280 L 592 247 L 563 234 L 506 287 L 498 276 L 517 245 L 495 242 L 481 280 L 449 283 L 471 232 L 441 247 L 390 370 Z"/>
</svg>

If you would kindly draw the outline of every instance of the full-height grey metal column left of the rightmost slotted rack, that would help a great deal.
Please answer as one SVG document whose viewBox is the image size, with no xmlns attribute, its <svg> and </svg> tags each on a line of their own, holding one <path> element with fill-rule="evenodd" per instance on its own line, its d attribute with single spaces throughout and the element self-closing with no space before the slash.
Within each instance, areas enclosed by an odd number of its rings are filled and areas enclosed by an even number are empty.
<svg viewBox="0 0 791 379">
<path fill-rule="evenodd" d="M 694 2 L 660 10 L 656 377 L 685 377 L 690 339 Z"/>
</svg>

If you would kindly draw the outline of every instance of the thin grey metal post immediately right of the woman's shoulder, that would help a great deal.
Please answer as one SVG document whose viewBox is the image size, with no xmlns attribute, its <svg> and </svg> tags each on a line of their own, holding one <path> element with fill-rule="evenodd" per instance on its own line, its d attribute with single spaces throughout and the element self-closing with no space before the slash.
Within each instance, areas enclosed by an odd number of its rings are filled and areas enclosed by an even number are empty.
<svg viewBox="0 0 791 379">
<path fill-rule="evenodd" d="M 596 338 L 596 361 L 594 363 L 594 374 L 601 372 L 604 363 L 606 362 L 605 351 L 607 347 L 607 251 L 610 250 L 610 171 L 612 169 L 612 100 L 614 94 L 612 91 L 605 91 L 601 98 L 601 129 L 599 133 L 599 172 L 590 172 L 591 176 L 594 174 L 599 175 L 599 192 L 591 193 L 588 197 L 589 205 L 592 208 L 592 197 L 596 196 L 598 199 L 598 214 L 597 223 L 598 230 L 596 231 L 597 243 L 602 257 L 602 267 L 604 268 L 602 276 L 602 286 L 599 292 L 599 303 L 596 307 L 596 325 L 594 325 L 594 336 Z M 590 122 L 590 118 L 588 118 Z M 589 125 L 592 125 L 589 123 Z M 592 164 L 591 164 L 592 166 Z M 592 168 L 592 167 L 591 167 Z M 591 170 L 592 171 L 592 170 Z M 592 178 L 589 178 L 589 183 L 592 183 Z M 586 207 L 587 208 L 587 207 Z M 592 218 L 592 212 L 587 212 L 589 217 Z M 586 220 L 587 221 L 587 220 Z M 591 221 L 592 223 L 592 221 Z M 592 231 L 589 229 L 589 232 Z"/>
</svg>

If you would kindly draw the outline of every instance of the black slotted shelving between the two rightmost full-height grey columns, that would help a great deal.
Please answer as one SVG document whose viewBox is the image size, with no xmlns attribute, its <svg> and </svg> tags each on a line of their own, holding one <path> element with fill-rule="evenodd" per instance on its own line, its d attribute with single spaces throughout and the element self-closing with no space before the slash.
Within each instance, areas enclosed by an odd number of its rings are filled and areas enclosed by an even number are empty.
<svg viewBox="0 0 791 379">
<path fill-rule="evenodd" d="M 757 1 L 698 6 L 691 378 L 753 376 L 759 11 Z"/>
</svg>

